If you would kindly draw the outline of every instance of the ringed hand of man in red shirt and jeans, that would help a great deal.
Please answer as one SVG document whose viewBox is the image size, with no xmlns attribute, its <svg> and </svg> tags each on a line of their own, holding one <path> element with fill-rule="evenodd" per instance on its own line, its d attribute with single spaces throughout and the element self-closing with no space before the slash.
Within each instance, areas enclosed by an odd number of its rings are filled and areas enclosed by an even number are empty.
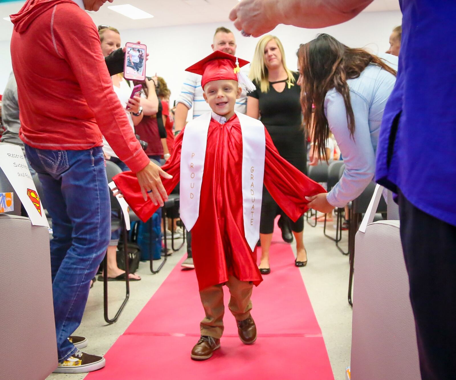
<svg viewBox="0 0 456 380">
<path fill-rule="evenodd" d="M 144 200 L 147 200 L 147 196 L 149 195 L 150 200 L 155 206 L 157 204 L 163 206 L 165 204 L 164 201 L 168 200 L 168 194 L 166 194 L 160 177 L 171 179 L 172 176 L 161 170 L 161 167 L 158 165 L 149 162 L 149 165 L 136 173 L 136 177 L 138 177 Z"/>
</svg>

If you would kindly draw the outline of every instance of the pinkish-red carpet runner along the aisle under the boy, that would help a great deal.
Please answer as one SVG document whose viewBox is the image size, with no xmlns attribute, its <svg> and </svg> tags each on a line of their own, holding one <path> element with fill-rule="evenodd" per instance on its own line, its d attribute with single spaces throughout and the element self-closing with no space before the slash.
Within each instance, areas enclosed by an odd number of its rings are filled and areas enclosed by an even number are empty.
<svg viewBox="0 0 456 380">
<path fill-rule="evenodd" d="M 252 316 L 258 330 L 255 344 L 246 346 L 239 340 L 228 310 L 228 288 L 224 287 L 221 348 L 206 361 L 190 359 L 204 314 L 195 272 L 181 271 L 177 265 L 109 349 L 106 367 L 85 379 L 333 380 L 321 330 L 294 266 L 293 252 L 283 243 L 277 227 L 270 255 L 271 274 L 264 276 L 252 295 Z"/>
</svg>

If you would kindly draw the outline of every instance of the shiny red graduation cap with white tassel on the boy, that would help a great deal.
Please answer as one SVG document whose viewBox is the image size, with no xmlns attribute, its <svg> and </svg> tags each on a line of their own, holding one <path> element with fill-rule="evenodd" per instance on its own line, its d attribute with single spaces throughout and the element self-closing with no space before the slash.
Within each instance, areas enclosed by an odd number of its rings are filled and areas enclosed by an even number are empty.
<svg viewBox="0 0 456 380">
<path fill-rule="evenodd" d="M 248 63 L 250 62 L 217 50 L 187 68 L 186 71 L 202 75 L 201 86 L 203 89 L 207 82 L 213 80 L 235 80 L 239 82 L 239 85 L 245 86 L 249 91 L 253 91 L 249 89 L 249 87 L 253 86 L 253 83 L 239 72 L 239 68 Z M 250 83 L 245 83 L 246 78 Z"/>
</svg>

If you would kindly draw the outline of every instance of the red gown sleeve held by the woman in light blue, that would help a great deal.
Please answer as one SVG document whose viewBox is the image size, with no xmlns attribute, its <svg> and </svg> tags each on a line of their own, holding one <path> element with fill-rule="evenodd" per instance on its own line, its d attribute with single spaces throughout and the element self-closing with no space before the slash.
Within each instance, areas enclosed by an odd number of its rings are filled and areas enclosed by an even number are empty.
<svg viewBox="0 0 456 380">
<path fill-rule="evenodd" d="M 265 135 L 264 185 L 279 207 L 296 221 L 308 209 L 306 196 L 326 190 L 280 156 L 267 130 Z"/>
</svg>

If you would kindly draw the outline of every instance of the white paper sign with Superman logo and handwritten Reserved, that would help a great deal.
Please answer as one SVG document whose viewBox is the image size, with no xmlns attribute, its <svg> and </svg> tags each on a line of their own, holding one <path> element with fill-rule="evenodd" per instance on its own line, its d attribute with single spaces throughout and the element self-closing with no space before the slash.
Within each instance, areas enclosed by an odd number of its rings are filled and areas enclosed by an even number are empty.
<svg viewBox="0 0 456 380">
<path fill-rule="evenodd" d="M 30 174 L 27 161 L 20 146 L 12 144 L 0 145 L 0 168 L 10 181 L 15 193 L 21 199 L 31 224 L 49 228 L 43 204 L 36 191 L 35 183 Z"/>
</svg>

